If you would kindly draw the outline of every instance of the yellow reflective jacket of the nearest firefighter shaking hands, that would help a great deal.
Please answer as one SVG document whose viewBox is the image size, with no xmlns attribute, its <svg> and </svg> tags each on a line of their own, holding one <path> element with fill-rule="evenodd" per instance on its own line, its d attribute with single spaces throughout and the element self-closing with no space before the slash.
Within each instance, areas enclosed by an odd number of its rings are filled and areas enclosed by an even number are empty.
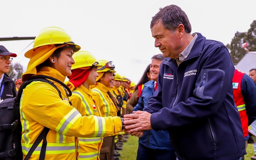
<svg viewBox="0 0 256 160">
<path fill-rule="evenodd" d="M 51 67 L 43 67 L 37 75 L 48 75 L 64 82 L 65 77 Z M 20 100 L 20 119 L 22 124 L 23 158 L 44 129 L 48 127 L 47 160 L 76 160 L 75 137 L 106 137 L 121 131 L 119 117 L 82 116 L 78 110 L 69 105 L 65 90 L 59 83 L 57 90 L 45 82 L 31 82 L 23 90 Z M 33 152 L 30 160 L 38 160 L 42 143 Z"/>
</svg>

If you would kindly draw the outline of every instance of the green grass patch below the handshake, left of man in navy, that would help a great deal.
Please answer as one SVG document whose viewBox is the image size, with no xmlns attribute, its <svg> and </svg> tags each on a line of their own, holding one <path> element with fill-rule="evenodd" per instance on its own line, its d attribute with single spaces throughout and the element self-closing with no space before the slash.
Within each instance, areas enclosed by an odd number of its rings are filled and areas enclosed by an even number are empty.
<svg viewBox="0 0 256 160">
<path fill-rule="evenodd" d="M 127 142 L 123 144 L 123 150 L 119 151 L 121 157 L 120 160 L 136 160 L 137 150 L 139 144 L 139 138 L 136 136 L 130 136 L 127 138 Z"/>
</svg>

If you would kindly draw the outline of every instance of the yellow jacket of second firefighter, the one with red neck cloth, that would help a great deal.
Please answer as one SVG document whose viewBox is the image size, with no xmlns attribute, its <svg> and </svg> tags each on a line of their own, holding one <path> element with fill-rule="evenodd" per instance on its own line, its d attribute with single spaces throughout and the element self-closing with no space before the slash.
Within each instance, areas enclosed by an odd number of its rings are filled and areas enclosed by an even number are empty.
<svg viewBox="0 0 256 160">
<path fill-rule="evenodd" d="M 95 104 L 92 95 L 93 91 L 87 89 L 83 85 L 76 87 L 72 91 L 72 96 L 69 100 L 72 106 L 75 107 L 82 116 L 101 116 L 98 106 Z M 99 151 L 102 145 L 102 138 L 78 138 L 79 160 L 99 160 Z"/>
</svg>

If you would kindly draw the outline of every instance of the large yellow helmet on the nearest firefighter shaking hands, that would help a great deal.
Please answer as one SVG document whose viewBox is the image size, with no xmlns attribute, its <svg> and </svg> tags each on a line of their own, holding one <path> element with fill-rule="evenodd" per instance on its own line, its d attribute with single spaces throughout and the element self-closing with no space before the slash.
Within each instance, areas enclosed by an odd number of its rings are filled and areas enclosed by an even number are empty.
<svg viewBox="0 0 256 160">
<path fill-rule="evenodd" d="M 27 58 L 30 58 L 33 51 L 41 46 L 54 45 L 54 44 L 70 44 L 74 46 L 74 52 L 80 50 L 80 46 L 72 42 L 71 37 L 67 32 L 59 27 L 47 27 L 39 32 L 35 37 L 33 48 L 25 53 Z"/>
</svg>

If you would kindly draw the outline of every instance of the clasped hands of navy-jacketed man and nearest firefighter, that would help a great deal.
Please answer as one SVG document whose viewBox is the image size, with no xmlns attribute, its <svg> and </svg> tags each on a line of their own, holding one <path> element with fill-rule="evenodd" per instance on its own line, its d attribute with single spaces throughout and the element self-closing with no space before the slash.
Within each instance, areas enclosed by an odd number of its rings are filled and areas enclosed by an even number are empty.
<svg viewBox="0 0 256 160">
<path fill-rule="evenodd" d="M 131 136 L 141 137 L 144 130 L 152 129 L 150 122 L 151 114 L 144 111 L 134 111 L 132 114 L 124 115 L 124 132 Z"/>
</svg>

